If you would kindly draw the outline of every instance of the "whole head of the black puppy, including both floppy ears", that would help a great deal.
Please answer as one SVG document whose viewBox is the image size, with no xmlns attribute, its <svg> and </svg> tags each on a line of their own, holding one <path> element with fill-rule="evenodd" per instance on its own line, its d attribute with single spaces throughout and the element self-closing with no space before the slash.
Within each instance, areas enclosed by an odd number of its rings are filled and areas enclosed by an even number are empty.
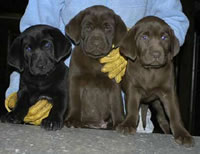
<svg viewBox="0 0 200 154">
<path fill-rule="evenodd" d="M 71 51 L 71 43 L 56 28 L 37 25 L 15 39 L 8 54 L 8 63 L 32 75 L 48 75 Z"/>
</svg>

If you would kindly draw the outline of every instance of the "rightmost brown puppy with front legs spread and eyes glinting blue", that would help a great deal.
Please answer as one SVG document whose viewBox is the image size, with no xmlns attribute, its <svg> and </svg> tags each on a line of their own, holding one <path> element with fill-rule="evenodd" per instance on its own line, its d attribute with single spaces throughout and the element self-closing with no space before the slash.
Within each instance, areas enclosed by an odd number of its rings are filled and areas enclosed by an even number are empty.
<svg viewBox="0 0 200 154">
<path fill-rule="evenodd" d="M 184 128 L 175 88 L 173 57 L 179 42 L 173 30 L 157 17 L 145 17 L 127 33 L 120 52 L 128 59 L 122 81 L 127 104 L 127 116 L 117 128 L 134 134 L 140 103 L 162 102 L 171 131 L 179 144 L 191 146 L 193 138 Z"/>
</svg>

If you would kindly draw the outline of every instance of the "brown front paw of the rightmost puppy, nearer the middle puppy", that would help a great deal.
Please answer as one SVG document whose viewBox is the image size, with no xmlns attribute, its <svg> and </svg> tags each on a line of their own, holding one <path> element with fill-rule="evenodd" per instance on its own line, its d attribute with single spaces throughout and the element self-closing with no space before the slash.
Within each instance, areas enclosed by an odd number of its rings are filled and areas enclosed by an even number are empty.
<svg viewBox="0 0 200 154">
<path fill-rule="evenodd" d="M 120 133 L 123 133 L 125 135 L 127 134 L 136 134 L 136 127 L 129 123 L 122 123 L 116 127 L 116 130 Z"/>
</svg>

